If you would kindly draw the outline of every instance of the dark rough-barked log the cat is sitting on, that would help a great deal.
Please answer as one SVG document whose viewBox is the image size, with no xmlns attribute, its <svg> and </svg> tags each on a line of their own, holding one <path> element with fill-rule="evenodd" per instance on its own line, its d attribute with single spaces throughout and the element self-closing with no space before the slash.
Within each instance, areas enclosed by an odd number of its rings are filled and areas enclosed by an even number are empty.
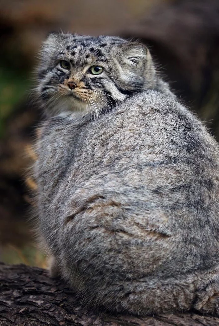
<svg viewBox="0 0 219 326">
<path fill-rule="evenodd" d="M 75 294 L 47 271 L 0 263 L 1 326 L 218 326 L 219 318 L 197 314 L 134 316 L 96 313 L 83 308 Z"/>
</svg>

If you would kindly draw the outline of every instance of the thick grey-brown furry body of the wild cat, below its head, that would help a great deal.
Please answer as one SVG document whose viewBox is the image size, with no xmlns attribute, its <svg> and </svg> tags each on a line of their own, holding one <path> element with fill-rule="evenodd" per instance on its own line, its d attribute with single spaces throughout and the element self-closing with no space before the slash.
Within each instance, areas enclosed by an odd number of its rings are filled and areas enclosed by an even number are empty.
<svg viewBox="0 0 219 326">
<path fill-rule="evenodd" d="M 156 88 L 98 123 L 89 112 L 47 119 L 39 234 L 51 271 L 88 305 L 219 315 L 219 147 L 166 84 Z"/>
</svg>

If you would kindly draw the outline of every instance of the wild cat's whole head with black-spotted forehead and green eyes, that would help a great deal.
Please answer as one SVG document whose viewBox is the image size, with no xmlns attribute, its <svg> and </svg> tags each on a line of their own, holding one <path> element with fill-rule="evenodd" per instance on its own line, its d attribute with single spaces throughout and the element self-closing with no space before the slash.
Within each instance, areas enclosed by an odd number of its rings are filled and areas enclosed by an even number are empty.
<svg viewBox="0 0 219 326">
<path fill-rule="evenodd" d="M 148 49 L 119 37 L 51 33 L 38 67 L 37 93 L 47 114 L 109 108 L 152 87 Z"/>
</svg>

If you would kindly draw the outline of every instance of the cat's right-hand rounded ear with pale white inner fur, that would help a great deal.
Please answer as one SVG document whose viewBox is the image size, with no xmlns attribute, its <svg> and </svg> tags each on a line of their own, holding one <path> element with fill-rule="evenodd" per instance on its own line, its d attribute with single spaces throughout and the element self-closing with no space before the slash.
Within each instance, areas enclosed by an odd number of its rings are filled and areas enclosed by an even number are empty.
<svg viewBox="0 0 219 326">
<path fill-rule="evenodd" d="M 149 50 L 141 43 L 129 43 L 123 46 L 123 62 L 130 67 L 145 65 L 150 56 Z"/>
</svg>

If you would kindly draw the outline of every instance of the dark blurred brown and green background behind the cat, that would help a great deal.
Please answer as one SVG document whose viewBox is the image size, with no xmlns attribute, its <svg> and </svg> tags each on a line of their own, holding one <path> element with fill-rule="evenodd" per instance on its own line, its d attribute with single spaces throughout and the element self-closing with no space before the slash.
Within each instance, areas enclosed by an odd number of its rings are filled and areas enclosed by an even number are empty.
<svg viewBox="0 0 219 326">
<path fill-rule="evenodd" d="M 118 35 L 144 42 L 182 102 L 219 140 L 218 0 L 0 0 L 0 260 L 45 267 L 30 220 L 34 158 L 42 120 L 32 71 L 51 31 Z"/>
</svg>

